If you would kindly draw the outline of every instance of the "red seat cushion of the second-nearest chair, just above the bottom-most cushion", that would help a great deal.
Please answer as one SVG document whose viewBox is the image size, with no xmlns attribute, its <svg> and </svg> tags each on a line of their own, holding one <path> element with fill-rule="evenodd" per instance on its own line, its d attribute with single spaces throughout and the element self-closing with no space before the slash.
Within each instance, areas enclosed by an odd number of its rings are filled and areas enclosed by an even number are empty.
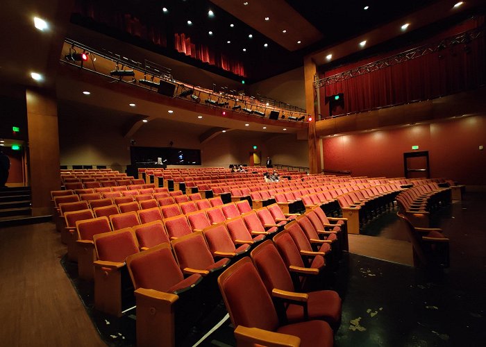
<svg viewBox="0 0 486 347">
<path fill-rule="evenodd" d="M 341 298 L 333 290 L 311 291 L 308 300 L 309 319 L 322 319 L 330 324 L 341 321 Z M 289 305 L 287 319 L 290 322 L 303 320 L 303 307 Z"/>
</svg>

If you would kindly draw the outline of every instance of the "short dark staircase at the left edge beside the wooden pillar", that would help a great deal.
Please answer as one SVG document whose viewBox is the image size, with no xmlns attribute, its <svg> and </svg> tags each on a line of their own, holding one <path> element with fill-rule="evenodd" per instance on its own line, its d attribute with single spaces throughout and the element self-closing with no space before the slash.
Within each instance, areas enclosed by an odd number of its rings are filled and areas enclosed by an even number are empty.
<svg viewBox="0 0 486 347">
<path fill-rule="evenodd" d="M 50 221 L 51 215 L 32 216 L 30 187 L 0 189 L 0 228 Z"/>
</svg>

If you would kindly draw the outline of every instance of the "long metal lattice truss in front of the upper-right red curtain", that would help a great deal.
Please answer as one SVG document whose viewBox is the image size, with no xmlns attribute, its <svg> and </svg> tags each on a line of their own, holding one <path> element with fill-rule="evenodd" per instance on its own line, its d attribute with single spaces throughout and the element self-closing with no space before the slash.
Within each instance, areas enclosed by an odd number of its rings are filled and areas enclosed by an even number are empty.
<svg viewBox="0 0 486 347">
<path fill-rule="evenodd" d="M 420 58 L 421 56 L 426 56 L 429 53 L 435 53 L 438 51 L 443 51 L 447 48 L 453 48 L 453 46 L 456 46 L 458 44 L 464 44 L 465 47 L 467 47 L 467 44 L 469 44 L 469 42 L 483 37 L 484 34 L 485 26 L 480 26 L 478 28 L 474 28 L 470 31 L 465 31 L 464 33 L 460 33 L 455 36 L 446 37 L 443 40 L 435 42 L 433 44 L 425 44 L 424 46 L 419 46 L 417 48 L 396 54 L 395 56 L 391 56 L 382 60 L 377 60 L 376 62 L 370 62 L 367 65 L 362 65 L 360 67 L 356 67 L 355 69 L 341 72 L 340 74 L 321 78 L 314 81 L 314 88 L 319 89 L 321 87 L 325 87 L 326 85 L 332 85 L 333 83 L 345 81 L 355 76 L 369 74 L 372 71 L 400 64 L 401 62 L 405 62 L 415 58 Z M 464 49 L 466 49 L 465 47 Z"/>
</svg>

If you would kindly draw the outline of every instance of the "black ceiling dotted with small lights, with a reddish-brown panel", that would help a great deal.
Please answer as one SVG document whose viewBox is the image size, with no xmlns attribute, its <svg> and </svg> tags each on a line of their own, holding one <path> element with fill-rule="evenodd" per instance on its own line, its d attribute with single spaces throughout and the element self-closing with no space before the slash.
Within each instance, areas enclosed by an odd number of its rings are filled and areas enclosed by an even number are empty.
<svg viewBox="0 0 486 347">
<path fill-rule="evenodd" d="M 77 0 L 89 3 L 92 0 Z M 241 80 L 223 69 L 188 58 L 174 49 L 174 34 L 244 63 L 249 83 L 303 65 L 308 54 L 333 46 L 436 3 L 451 0 L 118 0 L 114 11 L 130 13 L 141 23 L 156 24 L 167 35 L 167 47 L 145 42 L 146 48 L 202 69 Z M 465 1 L 468 3 L 481 1 Z M 365 9 L 366 8 L 366 9 Z M 165 9 L 165 11 L 163 10 Z M 210 12 L 211 11 L 211 12 Z M 442 18 L 454 15 L 446 12 Z M 266 20 L 268 18 L 268 20 Z M 192 22 L 191 25 L 187 21 Z M 126 40 L 126 33 L 94 24 L 78 15 L 72 21 Z M 430 23 L 428 23 L 430 24 Z M 413 30 L 417 29 L 413 28 Z M 421 28 L 424 30 L 424 27 Z M 403 33 L 396 33 L 402 35 Z M 251 35 L 251 37 L 250 37 Z M 389 38 L 390 39 L 390 38 Z M 138 43 L 137 43 L 138 42 Z M 230 42 L 230 43 L 228 43 Z M 142 44 L 139 39 L 131 43 Z M 265 46 L 266 45 L 266 46 Z M 243 51 L 243 50 L 246 51 Z"/>
</svg>

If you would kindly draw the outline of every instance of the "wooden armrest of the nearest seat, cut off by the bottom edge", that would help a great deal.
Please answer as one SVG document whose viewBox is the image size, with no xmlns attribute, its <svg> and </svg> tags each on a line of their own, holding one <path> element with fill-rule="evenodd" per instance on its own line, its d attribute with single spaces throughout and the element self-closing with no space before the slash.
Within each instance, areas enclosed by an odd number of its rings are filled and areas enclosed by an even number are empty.
<svg viewBox="0 0 486 347">
<path fill-rule="evenodd" d="M 285 346 L 298 347 L 301 345 L 301 339 L 294 335 L 280 334 L 279 332 L 271 332 L 259 328 L 246 328 L 243 325 L 238 325 L 235 329 L 235 338 L 237 345 L 251 346 Z"/>
</svg>

